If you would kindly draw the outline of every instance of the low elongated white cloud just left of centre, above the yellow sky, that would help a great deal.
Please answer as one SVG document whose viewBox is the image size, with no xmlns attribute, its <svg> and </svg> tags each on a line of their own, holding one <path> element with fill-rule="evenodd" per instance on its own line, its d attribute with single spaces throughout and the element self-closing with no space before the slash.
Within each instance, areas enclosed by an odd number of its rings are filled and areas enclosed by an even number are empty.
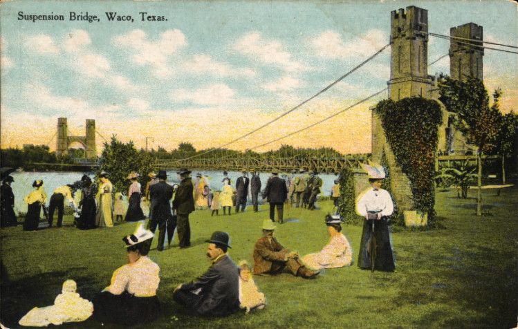
<svg viewBox="0 0 518 329">
<path fill-rule="evenodd" d="M 176 102 L 192 102 L 201 105 L 218 105 L 232 101 L 234 91 L 225 84 L 213 84 L 205 89 L 189 91 L 178 89 L 171 94 L 172 100 Z"/>
</svg>

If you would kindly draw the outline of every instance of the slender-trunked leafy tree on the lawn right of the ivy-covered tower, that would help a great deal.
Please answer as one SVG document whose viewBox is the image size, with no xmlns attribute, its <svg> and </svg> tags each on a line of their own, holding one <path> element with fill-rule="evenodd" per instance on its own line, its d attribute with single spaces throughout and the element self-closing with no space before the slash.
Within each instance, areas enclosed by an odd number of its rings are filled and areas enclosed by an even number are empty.
<svg viewBox="0 0 518 329">
<path fill-rule="evenodd" d="M 493 105 L 489 106 L 489 95 L 483 82 L 470 77 L 465 82 L 441 75 L 438 79 L 439 100 L 447 111 L 454 114 L 453 126 L 461 131 L 469 144 L 477 147 L 479 164 L 477 179 L 477 216 L 482 214 L 482 154 L 492 153 L 497 147 L 497 133 L 501 112 L 499 99 L 501 91 L 493 93 Z"/>
</svg>

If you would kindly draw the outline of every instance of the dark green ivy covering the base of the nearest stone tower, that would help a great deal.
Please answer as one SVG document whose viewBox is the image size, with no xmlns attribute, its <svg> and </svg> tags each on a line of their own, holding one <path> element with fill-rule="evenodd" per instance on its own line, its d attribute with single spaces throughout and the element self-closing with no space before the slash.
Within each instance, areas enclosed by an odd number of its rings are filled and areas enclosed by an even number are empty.
<svg viewBox="0 0 518 329">
<path fill-rule="evenodd" d="M 387 142 L 396 162 L 410 180 L 414 207 L 421 214 L 435 215 L 434 161 L 441 106 L 423 97 L 382 100 L 376 105 Z"/>
</svg>

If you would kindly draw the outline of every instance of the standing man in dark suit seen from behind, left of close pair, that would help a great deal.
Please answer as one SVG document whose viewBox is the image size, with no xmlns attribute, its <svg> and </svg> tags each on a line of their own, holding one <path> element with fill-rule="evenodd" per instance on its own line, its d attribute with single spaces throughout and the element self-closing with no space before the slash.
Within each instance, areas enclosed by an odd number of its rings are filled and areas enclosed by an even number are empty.
<svg viewBox="0 0 518 329">
<path fill-rule="evenodd" d="M 165 231 L 167 229 L 167 246 L 171 246 L 171 241 L 176 227 L 176 219 L 171 214 L 171 199 L 173 198 L 173 187 L 167 180 L 167 173 L 164 170 L 158 171 L 158 182 L 149 187 L 149 199 L 151 200 L 149 222 L 147 229 L 155 232 L 156 226 L 160 233 L 158 234 L 158 245 L 156 250 L 159 252 L 164 250 Z"/>
</svg>

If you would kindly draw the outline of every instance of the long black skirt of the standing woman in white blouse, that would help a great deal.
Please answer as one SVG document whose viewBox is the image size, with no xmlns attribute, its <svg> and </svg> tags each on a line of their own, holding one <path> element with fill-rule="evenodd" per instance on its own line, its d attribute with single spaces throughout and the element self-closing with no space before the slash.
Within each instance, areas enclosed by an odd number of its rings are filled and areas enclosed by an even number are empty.
<svg viewBox="0 0 518 329">
<path fill-rule="evenodd" d="M 372 222 L 374 222 L 374 234 L 372 234 Z M 360 254 L 358 255 L 358 267 L 371 268 L 371 255 L 369 253 L 369 238 L 375 239 L 376 251 L 374 260 L 374 270 L 394 271 L 396 263 L 394 261 L 394 250 L 392 249 L 391 225 L 389 218 L 384 217 L 380 220 L 364 220 L 362 241 L 360 242 Z"/>
</svg>

